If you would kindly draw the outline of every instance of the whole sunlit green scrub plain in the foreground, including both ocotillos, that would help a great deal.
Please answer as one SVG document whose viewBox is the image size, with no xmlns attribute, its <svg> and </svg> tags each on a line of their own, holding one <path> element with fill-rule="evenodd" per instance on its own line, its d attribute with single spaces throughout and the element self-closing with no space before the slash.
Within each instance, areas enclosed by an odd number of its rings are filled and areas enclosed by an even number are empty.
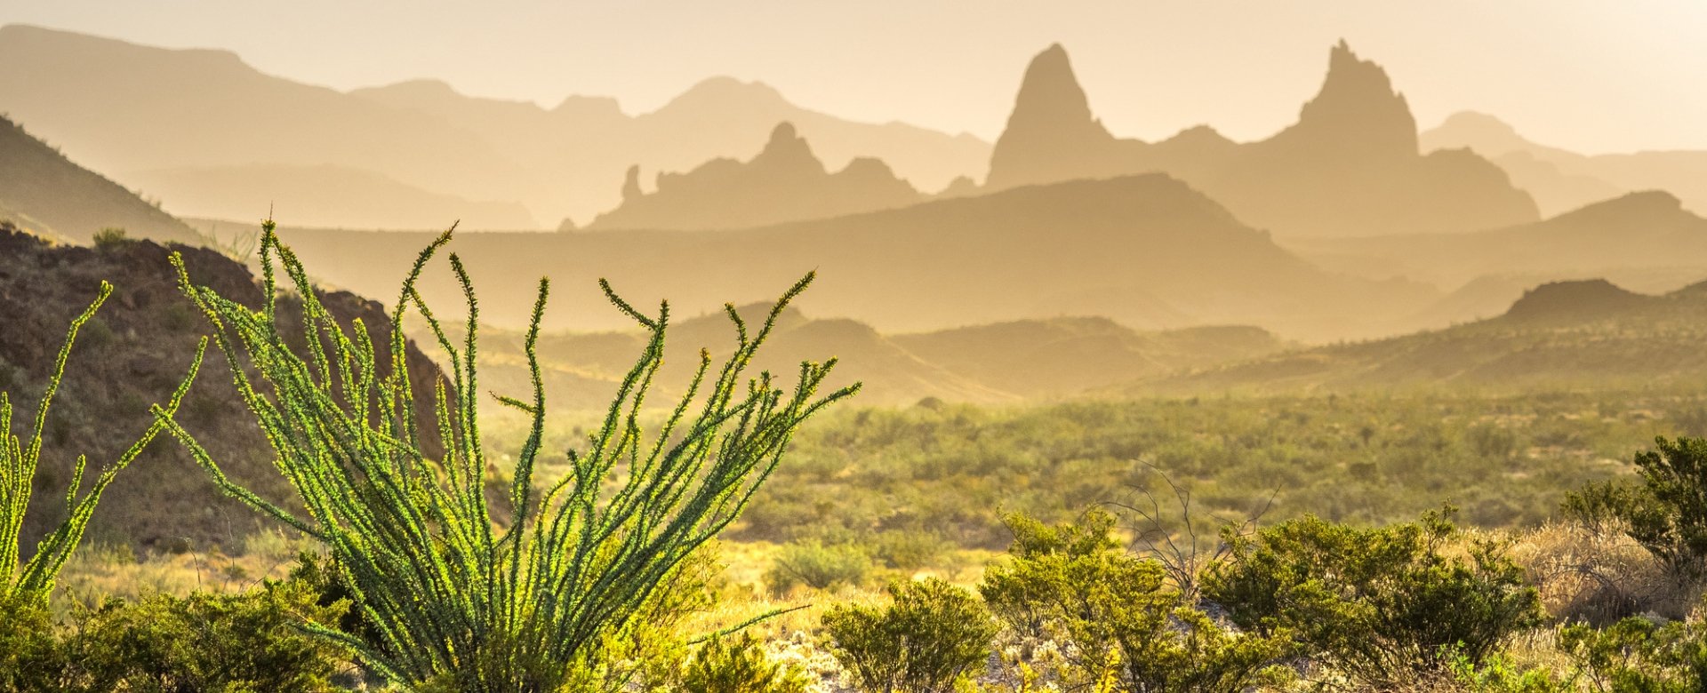
<svg viewBox="0 0 1707 693">
<path fill-rule="evenodd" d="M 125 242 L 113 239 L 108 244 Z M 3 447 L 19 691 L 1690 691 L 1707 673 L 1707 422 L 1687 391 L 1412 391 L 838 408 L 835 360 L 748 365 L 806 277 L 685 393 L 645 399 L 669 306 L 603 413 L 485 393 L 480 304 L 415 277 L 340 321 L 263 232 L 261 304 L 176 259 L 295 497 L 154 423 L 26 553 L 48 405 Z M 282 280 L 280 280 L 282 277 Z M 283 331 L 280 304 L 302 328 Z M 420 399 L 405 317 L 446 376 Z M 454 340 L 449 335 L 457 335 Z M 376 340 L 389 340 L 384 352 Z M 205 341 L 203 341 L 205 345 Z M 379 353 L 384 353 L 381 357 Z M 198 350 L 195 362 L 201 364 Z M 10 398 L 0 399 L 9 428 Z M 428 410 L 437 430 L 425 430 Z M 813 420 L 811 425 L 806 425 Z M 232 553 L 80 544 L 160 434 L 273 521 Z M 1673 437 L 1681 435 L 1681 437 Z M 553 459 L 546 451 L 570 451 Z M 79 463 L 75 469 L 82 469 Z M 63 575 L 61 575 L 63 572 Z M 145 577 L 147 575 L 147 577 Z M 121 585 L 121 587 L 116 587 Z M 60 589 L 56 589 L 60 587 Z"/>
</svg>

